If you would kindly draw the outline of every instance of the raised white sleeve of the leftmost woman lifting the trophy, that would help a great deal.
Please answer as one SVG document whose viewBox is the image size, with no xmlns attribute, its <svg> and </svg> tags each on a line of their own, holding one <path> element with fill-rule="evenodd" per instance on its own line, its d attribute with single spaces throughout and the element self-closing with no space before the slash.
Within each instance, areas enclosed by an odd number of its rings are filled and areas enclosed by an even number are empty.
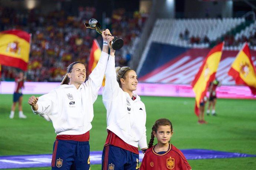
<svg viewBox="0 0 256 170">
<path fill-rule="evenodd" d="M 101 52 L 101 57 L 99 58 L 96 67 L 93 69 L 92 73 L 89 75 L 88 81 L 85 83 L 91 89 L 93 102 L 96 101 L 99 88 L 101 88 L 102 85 L 108 56 L 108 53 L 103 51 Z"/>
</svg>

